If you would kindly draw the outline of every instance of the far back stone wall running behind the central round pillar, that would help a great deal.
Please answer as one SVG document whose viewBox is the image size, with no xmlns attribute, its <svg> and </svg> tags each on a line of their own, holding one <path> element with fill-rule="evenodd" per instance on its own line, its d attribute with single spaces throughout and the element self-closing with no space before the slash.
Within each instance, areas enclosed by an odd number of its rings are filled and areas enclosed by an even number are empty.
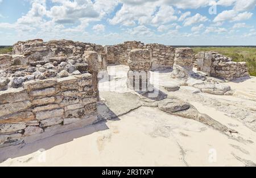
<svg viewBox="0 0 256 178">
<path fill-rule="evenodd" d="M 141 42 L 124 42 L 105 46 L 109 64 L 128 65 L 129 52 L 133 49 L 148 49 L 152 54 L 152 69 L 170 68 L 174 64 L 175 48 L 163 44 L 144 44 Z"/>
</svg>

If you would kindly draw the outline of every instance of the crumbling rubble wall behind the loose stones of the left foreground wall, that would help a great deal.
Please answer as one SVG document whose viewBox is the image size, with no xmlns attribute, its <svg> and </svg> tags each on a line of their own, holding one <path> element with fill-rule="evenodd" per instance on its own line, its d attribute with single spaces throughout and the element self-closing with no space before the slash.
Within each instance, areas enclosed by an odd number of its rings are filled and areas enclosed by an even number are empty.
<svg viewBox="0 0 256 178">
<path fill-rule="evenodd" d="M 27 42 L 18 42 L 13 45 L 15 55 L 23 55 L 20 59 L 22 64 L 45 63 L 52 57 L 74 57 L 82 56 L 85 51 L 95 51 L 98 53 L 99 68 L 106 70 L 106 55 L 102 45 L 91 43 L 73 42 L 71 40 L 28 40 Z"/>
</svg>

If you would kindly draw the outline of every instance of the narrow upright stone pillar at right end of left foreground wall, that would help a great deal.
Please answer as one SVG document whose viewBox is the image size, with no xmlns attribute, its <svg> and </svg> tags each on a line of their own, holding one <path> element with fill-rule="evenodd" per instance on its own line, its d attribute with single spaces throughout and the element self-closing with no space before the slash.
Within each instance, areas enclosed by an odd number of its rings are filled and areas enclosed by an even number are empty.
<svg viewBox="0 0 256 178">
<path fill-rule="evenodd" d="M 94 51 L 85 51 L 82 57 L 89 65 L 88 72 L 92 74 L 93 90 L 97 94 L 97 101 L 100 101 L 100 93 L 98 92 L 98 72 L 100 61 L 98 59 L 98 53 Z"/>
</svg>

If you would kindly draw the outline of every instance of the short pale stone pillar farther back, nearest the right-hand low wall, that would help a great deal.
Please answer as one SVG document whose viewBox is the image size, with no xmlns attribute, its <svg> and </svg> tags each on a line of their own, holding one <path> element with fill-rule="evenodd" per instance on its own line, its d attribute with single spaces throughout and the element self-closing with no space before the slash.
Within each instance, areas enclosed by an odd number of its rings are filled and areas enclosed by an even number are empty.
<svg viewBox="0 0 256 178">
<path fill-rule="evenodd" d="M 172 78 L 188 78 L 193 73 L 192 48 L 176 48 Z"/>
</svg>

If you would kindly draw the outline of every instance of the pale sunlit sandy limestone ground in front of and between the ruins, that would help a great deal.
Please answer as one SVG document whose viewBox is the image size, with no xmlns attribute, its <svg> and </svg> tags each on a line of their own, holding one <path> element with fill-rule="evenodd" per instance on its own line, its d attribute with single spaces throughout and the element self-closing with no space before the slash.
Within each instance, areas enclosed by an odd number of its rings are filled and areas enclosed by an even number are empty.
<svg viewBox="0 0 256 178">
<path fill-rule="evenodd" d="M 255 77 L 228 82 L 236 90 L 234 96 L 214 96 L 193 94 L 187 87 L 167 92 L 162 85 L 172 80 L 170 73 L 158 73 L 162 92 L 238 131 L 232 138 L 203 123 L 141 104 L 138 96 L 125 93 L 127 67 L 109 67 L 108 72 L 114 74 L 110 82 L 100 82 L 100 96 L 117 118 L 28 144 L 10 153 L 0 166 L 256 165 Z M 115 90 L 108 91 L 109 86 Z M 107 115 L 110 110 L 101 107 Z"/>
</svg>

